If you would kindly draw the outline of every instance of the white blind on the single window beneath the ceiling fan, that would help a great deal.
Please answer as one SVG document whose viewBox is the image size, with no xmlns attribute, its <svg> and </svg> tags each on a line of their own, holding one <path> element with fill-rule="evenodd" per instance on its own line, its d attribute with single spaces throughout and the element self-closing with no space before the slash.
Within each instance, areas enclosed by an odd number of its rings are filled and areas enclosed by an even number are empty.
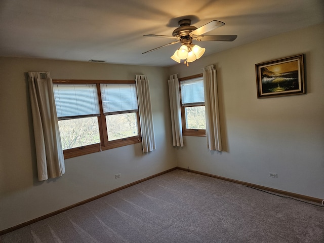
<svg viewBox="0 0 324 243">
<path fill-rule="evenodd" d="M 180 90 L 183 106 L 203 105 L 205 103 L 203 77 L 181 81 Z"/>
</svg>

